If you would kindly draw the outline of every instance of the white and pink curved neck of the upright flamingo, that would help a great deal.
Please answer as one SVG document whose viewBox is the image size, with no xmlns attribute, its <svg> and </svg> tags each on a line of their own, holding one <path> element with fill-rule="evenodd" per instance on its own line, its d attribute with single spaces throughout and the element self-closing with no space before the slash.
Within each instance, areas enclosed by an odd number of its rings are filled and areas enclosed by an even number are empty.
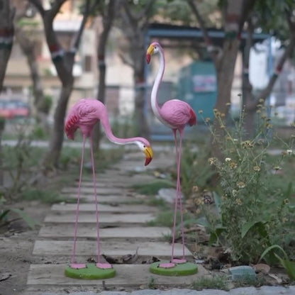
<svg viewBox="0 0 295 295">
<path fill-rule="evenodd" d="M 157 103 L 157 94 L 158 94 L 160 83 L 162 82 L 162 78 L 163 78 L 163 75 L 165 72 L 165 56 L 164 56 L 163 49 L 160 47 L 160 45 L 159 45 L 159 54 L 160 54 L 160 66 L 157 71 L 157 76 L 155 78 L 155 82 L 152 87 L 152 94 L 151 94 L 150 98 L 151 98 L 152 111 L 155 113 L 155 116 L 162 123 L 165 123 L 165 122 L 163 122 L 163 119 L 160 115 L 161 109 L 160 109 L 159 104 Z"/>
</svg>

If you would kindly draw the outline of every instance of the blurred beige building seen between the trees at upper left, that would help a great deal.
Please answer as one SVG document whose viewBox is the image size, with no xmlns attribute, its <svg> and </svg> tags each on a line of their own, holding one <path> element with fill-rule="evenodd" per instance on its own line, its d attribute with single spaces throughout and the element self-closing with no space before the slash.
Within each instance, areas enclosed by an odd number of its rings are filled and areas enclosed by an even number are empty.
<svg viewBox="0 0 295 295">
<path fill-rule="evenodd" d="M 26 34 L 34 43 L 34 50 L 37 56 L 37 62 L 40 72 L 41 81 L 45 94 L 52 96 L 53 107 L 60 94 L 60 79 L 54 65 L 52 64 L 50 51 L 45 40 L 43 31 L 43 21 L 38 11 L 27 1 L 12 0 L 16 6 L 18 13 L 25 13 L 28 23 L 34 23 L 34 26 L 26 26 Z M 79 6 L 83 1 L 66 1 L 63 4 L 60 13 L 55 17 L 53 28 L 57 32 L 62 48 L 65 50 L 71 46 L 72 37 L 79 30 L 82 21 L 82 15 L 79 13 Z M 45 9 L 50 8 L 50 0 L 43 0 Z M 101 31 L 100 18 L 94 19 L 91 23 L 87 23 L 82 35 L 82 40 L 77 52 L 74 63 L 74 90 L 69 99 L 69 106 L 82 97 L 95 97 L 98 89 L 98 68 L 96 48 Z M 116 33 L 115 33 L 116 34 Z M 113 50 L 108 52 L 106 56 L 107 72 L 106 72 L 106 105 L 108 111 L 113 114 L 130 113 L 133 107 L 132 89 L 132 70 L 124 66 L 120 59 L 114 57 Z M 111 62 L 108 65 L 108 62 Z M 4 79 L 4 90 L 0 98 L 4 100 L 21 99 L 33 106 L 33 94 L 31 91 L 32 79 L 30 77 L 30 69 L 26 56 L 21 50 L 16 38 L 13 42 L 11 57 L 6 69 L 6 77 Z M 126 99 L 124 99 L 126 98 Z M 125 102 L 126 101 L 126 105 Z"/>
</svg>

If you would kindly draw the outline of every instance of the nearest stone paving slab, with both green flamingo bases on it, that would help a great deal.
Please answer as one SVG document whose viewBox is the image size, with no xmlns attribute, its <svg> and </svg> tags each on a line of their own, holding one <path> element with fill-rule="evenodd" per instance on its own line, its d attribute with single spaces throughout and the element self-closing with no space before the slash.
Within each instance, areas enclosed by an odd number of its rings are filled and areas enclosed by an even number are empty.
<svg viewBox="0 0 295 295">
<path fill-rule="evenodd" d="M 27 285 L 58 285 L 58 286 L 84 286 L 102 284 L 102 280 L 79 280 L 65 277 L 64 270 L 67 265 L 30 265 Z M 208 275 L 204 267 L 198 265 L 197 274 L 187 277 L 165 277 L 149 272 L 149 265 L 113 265 L 116 269 L 116 276 L 111 279 L 104 279 L 107 287 L 111 286 L 140 286 L 148 284 L 150 278 L 155 279 L 155 284 L 161 286 L 189 286 L 200 277 Z"/>
</svg>

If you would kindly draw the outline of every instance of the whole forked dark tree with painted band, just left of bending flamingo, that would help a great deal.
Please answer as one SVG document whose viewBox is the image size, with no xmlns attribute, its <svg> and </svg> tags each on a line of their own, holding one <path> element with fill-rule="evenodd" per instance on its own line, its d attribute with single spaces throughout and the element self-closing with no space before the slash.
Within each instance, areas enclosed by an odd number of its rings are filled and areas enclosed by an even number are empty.
<svg viewBox="0 0 295 295">
<path fill-rule="evenodd" d="M 48 152 L 43 159 L 43 165 L 45 169 L 50 167 L 57 167 L 58 160 L 60 157 L 60 152 L 62 150 L 62 142 L 64 138 L 64 123 L 65 123 L 65 113 L 67 110 L 67 102 L 69 101 L 69 96 L 72 93 L 72 88 L 74 84 L 74 76 L 72 74 L 72 69 L 74 66 L 74 57 L 79 48 L 84 26 L 87 22 L 87 17 L 94 6 L 99 4 L 99 0 L 93 1 L 91 5 L 91 0 L 86 0 L 84 6 L 83 19 L 79 27 L 77 35 L 72 38 L 72 44 L 70 48 L 62 48 L 60 42 L 57 38 L 55 30 L 53 30 L 53 21 L 55 16 L 60 11 L 62 4 L 67 0 L 55 0 L 50 1 L 50 9 L 45 9 L 43 7 L 42 1 L 40 0 L 29 0 L 31 4 L 34 4 L 35 8 L 40 13 L 43 19 L 43 26 L 45 30 L 46 41 L 51 53 L 51 59 L 57 75 L 62 82 L 62 89 L 60 91 L 60 98 L 57 101 L 57 107 L 55 108 L 54 124 L 52 134 L 50 135 L 50 143 Z"/>
</svg>

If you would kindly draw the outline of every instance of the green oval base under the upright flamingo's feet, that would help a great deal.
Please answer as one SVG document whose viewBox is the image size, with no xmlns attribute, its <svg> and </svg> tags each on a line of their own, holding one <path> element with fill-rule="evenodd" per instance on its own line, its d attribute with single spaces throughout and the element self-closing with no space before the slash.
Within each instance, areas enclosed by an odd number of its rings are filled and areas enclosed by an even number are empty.
<svg viewBox="0 0 295 295">
<path fill-rule="evenodd" d="M 158 267 L 160 263 L 163 263 L 163 261 L 154 262 L 150 265 L 150 272 L 152 272 L 152 274 L 160 274 L 162 276 L 171 277 L 182 277 L 196 274 L 198 272 L 198 266 L 191 262 L 181 263 L 171 268 Z"/>
</svg>

